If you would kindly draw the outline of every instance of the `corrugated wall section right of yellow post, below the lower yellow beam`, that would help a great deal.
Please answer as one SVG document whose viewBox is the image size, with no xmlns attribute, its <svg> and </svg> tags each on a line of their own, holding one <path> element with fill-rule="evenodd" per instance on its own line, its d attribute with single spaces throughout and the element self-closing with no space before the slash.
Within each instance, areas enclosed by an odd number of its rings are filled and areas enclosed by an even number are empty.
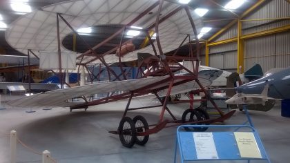
<svg viewBox="0 0 290 163">
<path fill-rule="evenodd" d="M 244 43 L 246 69 L 260 64 L 266 72 L 271 68 L 290 66 L 290 32 L 247 39 Z"/>
</svg>

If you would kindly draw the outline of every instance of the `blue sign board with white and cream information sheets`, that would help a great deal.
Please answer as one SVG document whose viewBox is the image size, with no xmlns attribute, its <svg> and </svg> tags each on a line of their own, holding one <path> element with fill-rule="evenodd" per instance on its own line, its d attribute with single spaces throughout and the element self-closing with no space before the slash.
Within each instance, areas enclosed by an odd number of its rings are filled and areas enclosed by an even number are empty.
<svg viewBox="0 0 290 163">
<path fill-rule="evenodd" d="M 220 131 L 189 132 L 185 131 L 184 127 L 208 127 L 210 130 L 217 128 Z M 225 131 L 226 128 L 238 128 L 241 131 Z M 195 136 L 196 134 L 197 136 Z M 249 137 L 249 135 L 253 136 Z M 197 137 L 199 138 L 197 139 Z M 214 144 L 208 142 L 211 139 L 213 139 Z M 242 145 L 240 145 L 241 143 Z M 181 162 L 206 160 L 247 160 L 251 162 L 251 160 L 264 160 L 271 163 L 257 131 L 249 125 L 182 125 L 177 128 L 174 162 L 176 162 L 177 146 Z M 216 151 L 213 151 L 213 148 Z"/>
</svg>

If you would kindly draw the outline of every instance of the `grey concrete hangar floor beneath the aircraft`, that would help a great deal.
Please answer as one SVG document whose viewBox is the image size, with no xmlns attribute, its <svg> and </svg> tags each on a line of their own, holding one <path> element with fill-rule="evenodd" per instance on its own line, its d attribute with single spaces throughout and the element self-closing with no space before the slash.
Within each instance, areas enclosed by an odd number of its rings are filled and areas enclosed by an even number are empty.
<svg viewBox="0 0 290 163">
<path fill-rule="evenodd" d="M 6 96 L 3 99 L 7 100 Z M 5 101 L 4 100 L 4 101 Z M 142 101 L 139 101 L 142 102 Z M 139 104 L 136 102 L 134 105 Z M 147 103 L 155 101 L 148 100 Z M 146 103 L 142 102 L 142 105 Z M 4 105 L 5 106 L 5 105 Z M 57 162 L 173 162 L 176 128 L 165 128 L 150 135 L 146 146 L 125 148 L 118 135 L 108 131 L 117 130 L 126 102 L 115 102 L 88 108 L 88 111 L 69 112 L 68 108 L 53 108 L 26 113 L 30 108 L 10 108 L 0 111 L 0 162 L 9 162 L 9 135 L 17 131 L 19 139 L 35 149 L 48 150 Z M 181 117 L 187 104 L 170 104 L 169 108 Z M 159 117 L 160 108 L 131 111 L 129 116 L 143 115 L 149 124 Z M 290 118 L 280 116 L 280 106 L 267 113 L 250 111 L 271 162 L 289 162 Z M 237 111 L 224 124 L 242 124 L 244 113 Z M 17 144 L 17 162 L 41 162 L 41 155 L 28 151 Z"/>
</svg>

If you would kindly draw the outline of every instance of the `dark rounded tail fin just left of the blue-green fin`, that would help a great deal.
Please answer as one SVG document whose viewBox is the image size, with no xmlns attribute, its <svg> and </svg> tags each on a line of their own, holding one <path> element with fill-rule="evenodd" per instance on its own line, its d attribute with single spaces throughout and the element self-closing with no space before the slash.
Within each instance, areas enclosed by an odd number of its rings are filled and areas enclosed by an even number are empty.
<svg viewBox="0 0 290 163">
<path fill-rule="evenodd" d="M 226 77 L 226 88 L 234 88 L 242 85 L 240 75 L 238 73 L 231 73 L 229 77 Z M 226 90 L 226 97 L 233 97 L 235 90 Z"/>
</svg>

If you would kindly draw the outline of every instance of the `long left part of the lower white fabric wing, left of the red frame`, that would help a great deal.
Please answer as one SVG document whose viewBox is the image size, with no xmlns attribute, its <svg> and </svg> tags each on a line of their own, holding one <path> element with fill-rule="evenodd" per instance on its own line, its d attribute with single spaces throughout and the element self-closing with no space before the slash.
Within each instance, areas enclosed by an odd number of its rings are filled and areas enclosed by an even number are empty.
<svg viewBox="0 0 290 163">
<path fill-rule="evenodd" d="M 81 97 L 83 95 L 93 95 L 100 93 L 110 93 L 115 91 L 129 91 L 142 88 L 148 84 L 153 84 L 168 77 L 154 77 L 145 79 L 131 79 L 124 81 L 105 81 L 86 86 L 76 86 L 52 90 L 46 93 L 38 93 L 28 97 L 15 99 L 8 102 L 10 106 L 34 107 L 34 106 L 70 106 L 70 103 L 64 103 L 67 99 Z"/>
</svg>

